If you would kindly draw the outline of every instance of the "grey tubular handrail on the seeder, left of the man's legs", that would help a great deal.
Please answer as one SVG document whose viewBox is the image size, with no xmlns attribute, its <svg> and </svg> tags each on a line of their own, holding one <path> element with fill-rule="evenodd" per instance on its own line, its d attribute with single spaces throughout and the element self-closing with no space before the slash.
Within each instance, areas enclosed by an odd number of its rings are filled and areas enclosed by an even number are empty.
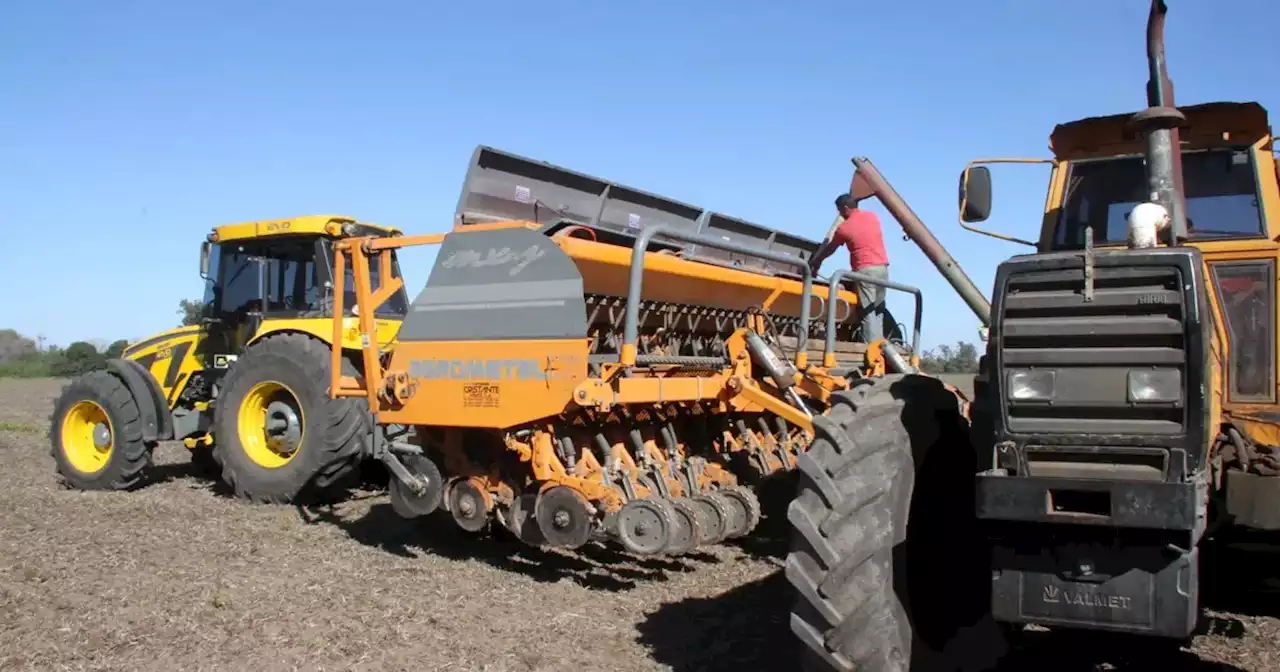
<svg viewBox="0 0 1280 672">
<path fill-rule="evenodd" d="M 626 312 L 626 321 L 623 323 L 622 326 L 621 361 L 623 366 L 634 366 L 636 364 L 636 342 L 640 339 L 640 292 L 644 288 L 645 251 L 649 248 L 649 243 L 653 242 L 653 238 L 659 234 L 667 238 L 684 241 L 686 243 L 703 244 L 707 247 L 723 250 L 726 252 L 750 255 L 777 264 L 785 264 L 788 266 L 800 268 L 803 278 L 803 289 L 800 292 L 800 329 L 799 333 L 796 334 L 795 364 L 796 367 L 804 370 L 809 360 L 809 353 L 805 352 L 805 347 L 809 344 L 809 301 L 812 300 L 813 296 L 813 271 L 809 269 L 809 264 L 805 260 L 796 259 L 790 255 L 783 255 L 781 252 L 745 247 L 741 244 L 735 244 L 731 242 L 710 238 L 708 236 L 700 236 L 696 233 L 689 233 L 680 229 L 673 229 L 666 224 L 658 224 L 644 229 L 640 233 L 640 236 L 636 236 L 635 247 L 631 250 L 631 276 L 627 284 L 627 312 Z M 835 315 L 835 311 L 828 311 L 828 315 Z M 705 360 L 705 357 L 699 357 L 699 358 Z M 673 358 L 663 357 L 663 360 L 667 361 Z"/>
</svg>

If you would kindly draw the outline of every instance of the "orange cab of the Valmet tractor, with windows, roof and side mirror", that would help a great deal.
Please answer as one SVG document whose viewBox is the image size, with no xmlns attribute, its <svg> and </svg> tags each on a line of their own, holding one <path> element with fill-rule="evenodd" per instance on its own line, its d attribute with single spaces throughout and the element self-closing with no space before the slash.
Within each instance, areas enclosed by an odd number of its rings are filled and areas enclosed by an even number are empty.
<svg viewBox="0 0 1280 672">
<path fill-rule="evenodd" d="M 1226 357 L 1220 403 L 1230 413 L 1280 413 L 1276 397 L 1276 260 L 1280 255 L 1280 161 L 1266 110 L 1257 102 L 1179 108 L 1185 232 L 1166 239 L 1204 264 L 1211 338 Z M 1129 214 L 1151 200 L 1143 138 L 1120 114 L 1059 124 L 1037 253 L 1124 253 Z M 986 220 L 991 175 L 970 164 L 961 175 L 961 221 Z M 973 228 L 973 227 L 966 227 Z M 977 230 L 977 229 L 975 229 Z M 986 233 L 986 232 L 982 232 Z M 1169 232 L 1172 233 L 1172 232 Z M 1244 420 L 1242 420 L 1244 421 Z M 1270 422 L 1268 422 L 1270 425 Z M 1276 443 L 1280 430 L 1253 428 Z"/>
</svg>

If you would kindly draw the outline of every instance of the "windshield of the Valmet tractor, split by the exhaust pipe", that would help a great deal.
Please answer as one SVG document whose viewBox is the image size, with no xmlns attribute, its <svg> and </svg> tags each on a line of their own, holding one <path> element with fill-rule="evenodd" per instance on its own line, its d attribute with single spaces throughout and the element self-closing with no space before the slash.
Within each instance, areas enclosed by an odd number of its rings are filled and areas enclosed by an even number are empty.
<svg viewBox="0 0 1280 672">
<path fill-rule="evenodd" d="M 1085 227 L 1093 227 L 1094 244 L 1123 244 L 1129 211 L 1147 200 L 1144 164 L 1142 156 L 1071 161 L 1052 248 L 1083 248 Z M 1263 236 L 1256 166 L 1247 148 L 1184 151 L 1183 188 L 1193 241 Z"/>
</svg>

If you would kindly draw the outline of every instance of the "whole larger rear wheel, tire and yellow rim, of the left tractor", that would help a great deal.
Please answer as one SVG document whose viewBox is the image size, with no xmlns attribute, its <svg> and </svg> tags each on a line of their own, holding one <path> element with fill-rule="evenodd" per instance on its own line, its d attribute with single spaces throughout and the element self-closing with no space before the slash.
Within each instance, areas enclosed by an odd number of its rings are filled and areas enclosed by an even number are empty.
<svg viewBox="0 0 1280 672">
<path fill-rule="evenodd" d="M 369 431 L 360 404 L 329 398 L 329 346 L 302 334 L 250 346 L 214 404 L 212 457 L 237 497 L 292 503 L 332 494 Z M 355 367 L 343 361 L 346 375 Z"/>
</svg>

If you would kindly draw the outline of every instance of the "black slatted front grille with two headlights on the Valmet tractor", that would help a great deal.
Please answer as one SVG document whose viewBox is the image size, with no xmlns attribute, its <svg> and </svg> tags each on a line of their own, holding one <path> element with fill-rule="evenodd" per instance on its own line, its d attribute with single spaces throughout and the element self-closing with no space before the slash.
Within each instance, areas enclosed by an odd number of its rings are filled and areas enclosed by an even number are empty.
<svg viewBox="0 0 1280 672">
<path fill-rule="evenodd" d="M 1187 422 L 1187 297 L 1178 266 L 1011 269 L 1000 308 L 998 381 L 1012 434 L 1174 435 Z M 1130 376 L 1137 371 L 1138 378 Z M 1134 402 L 1132 380 L 1164 381 L 1176 399 Z M 1018 384 L 1015 385 L 1015 380 Z M 1030 381 L 1030 388 L 1028 388 Z M 1037 385 L 1039 385 L 1037 388 Z M 1015 387 L 1048 389 L 1011 398 Z M 1046 398 L 1047 397 L 1047 398 Z"/>
</svg>

